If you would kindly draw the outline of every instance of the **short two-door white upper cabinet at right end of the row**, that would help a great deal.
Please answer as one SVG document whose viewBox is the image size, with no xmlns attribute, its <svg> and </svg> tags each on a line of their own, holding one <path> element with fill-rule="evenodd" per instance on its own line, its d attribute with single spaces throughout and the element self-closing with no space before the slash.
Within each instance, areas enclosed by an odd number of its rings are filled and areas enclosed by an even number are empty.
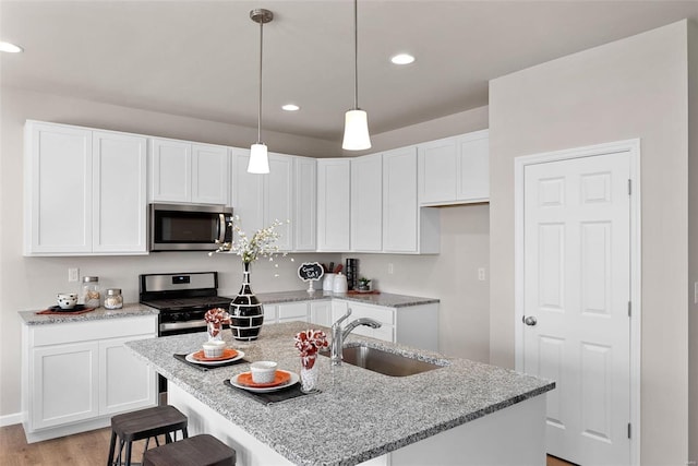
<svg viewBox="0 0 698 466">
<path fill-rule="evenodd" d="M 488 202 L 489 131 L 419 144 L 420 205 Z"/>
</svg>

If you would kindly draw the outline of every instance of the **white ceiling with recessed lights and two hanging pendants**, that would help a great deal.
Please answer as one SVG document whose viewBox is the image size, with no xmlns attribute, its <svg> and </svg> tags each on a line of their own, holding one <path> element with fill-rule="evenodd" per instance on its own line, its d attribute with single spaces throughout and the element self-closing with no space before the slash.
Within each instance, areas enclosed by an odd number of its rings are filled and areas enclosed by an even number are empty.
<svg viewBox="0 0 698 466">
<path fill-rule="evenodd" d="M 2 85 L 339 141 L 353 105 L 353 3 L 7 1 Z M 488 80 L 698 17 L 698 1 L 359 1 L 359 106 L 372 133 L 488 104 Z M 398 51 L 417 57 L 396 67 Z M 651 67 L 648 63 L 648 67 Z M 298 112 L 285 112 L 293 101 Z M 264 138 L 263 138 L 264 139 Z"/>
</svg>

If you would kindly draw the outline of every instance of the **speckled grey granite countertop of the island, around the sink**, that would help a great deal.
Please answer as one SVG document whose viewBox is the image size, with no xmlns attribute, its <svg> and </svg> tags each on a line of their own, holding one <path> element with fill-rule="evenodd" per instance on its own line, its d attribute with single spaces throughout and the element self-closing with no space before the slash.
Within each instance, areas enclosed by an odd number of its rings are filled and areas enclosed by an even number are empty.
<svg viewBox="0 0 698 466">
<path fill-rule="evenodd" d="M 279 369 L 298 372 L 293 335 L 305 328 L 303 322 L 267 325 L 252 343 L 234 342 L 229 332 L 224 334 L 229 346 L 245 353 L 245 360 L 276 360 Z M 394 378 L 348 363 L 333 368 L 329 358 L 321 356 L 316 363 L 322 393 L 264 406 L 222 383 L 249 371 L 249 363 L 201 372 L 172 357 L 197 350 L 205 339 L 205 333 L 197 333 L 127 346 L 171 383 L 298 465 L 362 463 L 555 386 L 494 366 L 350 335 L 348 345 L 365 342 L 444 367 Z"/>
</svg>

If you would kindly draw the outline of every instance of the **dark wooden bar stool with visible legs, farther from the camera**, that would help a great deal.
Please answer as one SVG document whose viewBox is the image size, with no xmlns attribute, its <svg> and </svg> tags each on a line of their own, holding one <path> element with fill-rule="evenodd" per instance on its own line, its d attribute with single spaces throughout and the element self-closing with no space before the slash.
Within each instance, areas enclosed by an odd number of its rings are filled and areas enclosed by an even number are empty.
<svg viewBox="0 0 698 466">
<path fill-rule="evenodd" d="M 109 459 L 107 466 L 121 465 L 121 452 L 125 445 L 124 465 L 131 466 L 131 449 L 133 442 L 147 439 L 145 449 L 148 447 L 151 438 L 159 446 L 157 435 L 165 435 L 165 442 L 171 443 L 171 433 L 182 431 L 182 438 L 189 437 L 186 432 L 186 416 L 173 406 L 156 406 L 139 411 L 125 413 L 111 418 L 111 442 L 109 444 Z M 115 458 L 115 449 L 119 438 L 119 454 Z"/>
</svg>

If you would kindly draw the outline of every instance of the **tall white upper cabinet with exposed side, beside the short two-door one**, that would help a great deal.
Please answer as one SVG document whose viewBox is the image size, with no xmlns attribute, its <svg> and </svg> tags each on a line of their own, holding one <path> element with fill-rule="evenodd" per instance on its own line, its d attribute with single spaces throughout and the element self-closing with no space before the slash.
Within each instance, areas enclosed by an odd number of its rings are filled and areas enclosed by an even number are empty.
<svg viewBox="0 0 698 466">
<path fill-rule="evenodd" d="M 438 211 L 419 207 L 417 147 L 383 154 L 383 251 L 438 253 Z"/>
</svg>

